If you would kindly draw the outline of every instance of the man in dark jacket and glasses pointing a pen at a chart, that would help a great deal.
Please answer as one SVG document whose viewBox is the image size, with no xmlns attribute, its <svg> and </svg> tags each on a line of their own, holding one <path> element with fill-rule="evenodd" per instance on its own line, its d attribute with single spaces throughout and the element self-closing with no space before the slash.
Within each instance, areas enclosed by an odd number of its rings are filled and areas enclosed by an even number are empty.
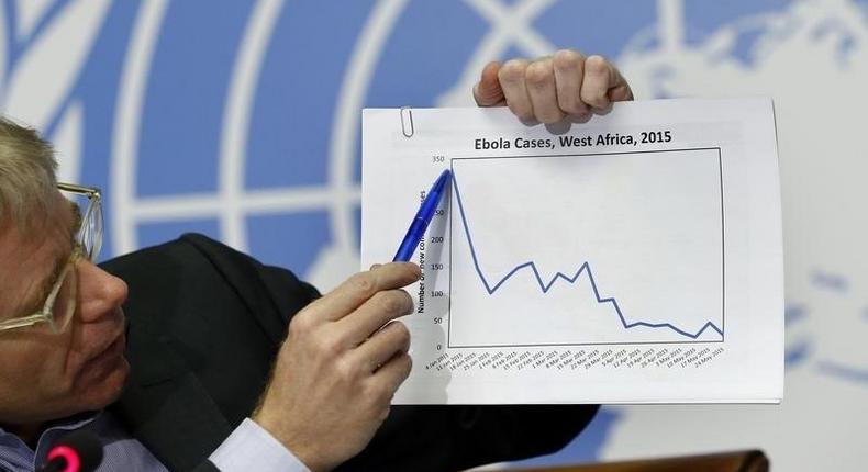
<svg viewBox="0 0 868 472">
<path fill-rule="evenodd" d="M 611 64 L 572 50 L 489 64 L 474 95 L 544 123 L 632 99 Z M 319 297 L 188 235 L 101 268 L 100 195 L 54 167 L 33 131 L 0 122 L 0 469 L 33 470 L 86 428 L 101 470 L 458 470 L 555 450 L 596 412 L 390 408 L 411 368 L 392 322 L 419 267 L 375 266 Z"/>
</svg>

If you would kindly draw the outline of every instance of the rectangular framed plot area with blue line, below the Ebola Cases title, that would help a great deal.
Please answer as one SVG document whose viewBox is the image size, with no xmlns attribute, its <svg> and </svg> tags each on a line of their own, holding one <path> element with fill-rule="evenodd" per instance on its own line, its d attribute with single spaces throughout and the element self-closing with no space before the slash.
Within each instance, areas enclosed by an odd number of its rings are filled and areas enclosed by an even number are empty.
<svg viewBox="0 0 868 472">
<path fill-rule="evenodd" d="M 723 340 L 720 149 L 452 167 L 450 347 Z"/>
</svg>

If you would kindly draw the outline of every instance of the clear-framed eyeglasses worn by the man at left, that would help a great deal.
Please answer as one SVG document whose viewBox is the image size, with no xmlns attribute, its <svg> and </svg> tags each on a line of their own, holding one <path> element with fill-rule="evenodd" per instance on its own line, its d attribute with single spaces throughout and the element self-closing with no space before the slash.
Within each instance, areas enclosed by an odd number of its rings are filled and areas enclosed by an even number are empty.
<svg viewBox="0 0 868 472">
<path fill-rule="evenodd" d="M 57 189 L 73 202 L 79 216 L 73 252 L 52 285 L 38 312 L 0 322 L 0 331 L 47 323 L 55 334 L 63 333 L 76 311 L 78 273 L 76 262 L 85 258 L 93 261 L 102 248 L 102 196 L 100 190 L 73 183 L 57 183 Z"/>
</svg>

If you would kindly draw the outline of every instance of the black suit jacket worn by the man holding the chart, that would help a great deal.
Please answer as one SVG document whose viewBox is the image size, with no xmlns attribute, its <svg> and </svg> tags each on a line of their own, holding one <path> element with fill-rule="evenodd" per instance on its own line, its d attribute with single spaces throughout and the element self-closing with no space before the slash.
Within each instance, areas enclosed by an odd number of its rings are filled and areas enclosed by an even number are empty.
<svg viewBox="0 0 868 472">
<path fill-rule="evenodd" d="M 130 382 L 110 409 L 171 471 L 208 456 L 254 409 L 289 319 L 319 296 L 291 272 L 185 235 L 103 263 L 130 285 Z M 393 406 L 338 471 L 456 471 L 552 452 L 596 406 Z"/>
</svg>

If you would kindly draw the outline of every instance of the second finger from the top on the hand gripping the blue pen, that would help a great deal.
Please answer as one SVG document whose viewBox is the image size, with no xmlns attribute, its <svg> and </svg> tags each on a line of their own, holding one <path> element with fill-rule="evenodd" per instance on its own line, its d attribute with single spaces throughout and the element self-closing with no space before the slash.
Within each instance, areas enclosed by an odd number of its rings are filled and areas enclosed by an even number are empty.
<svg viewBox="0 0 868 472">
<path fill-rule="evenodd" d="M 413 312 L 413 297 L 403 290 L 382 291 L 350 315 L 338 319 L 336 334 L 345 346 L 357 346 L 385 324 Z"/>
</svg>

